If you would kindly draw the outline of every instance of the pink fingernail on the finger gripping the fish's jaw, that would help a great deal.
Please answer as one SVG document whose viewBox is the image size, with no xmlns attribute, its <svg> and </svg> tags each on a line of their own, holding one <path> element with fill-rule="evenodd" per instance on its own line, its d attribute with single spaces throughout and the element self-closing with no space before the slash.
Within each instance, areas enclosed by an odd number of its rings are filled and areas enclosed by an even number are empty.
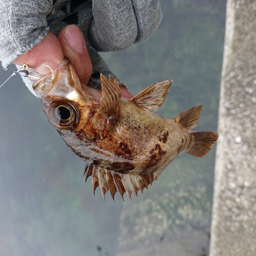
<svg viewBox="0 0 256 256">
<path fill-rule="evenodd" d="M 75 25 L 70 25 L 66 29 L 65 38 L 70 47 L 76 52 L 82 52 L 84 49 L 83 37 L 80 29 Z"/>
</svg>

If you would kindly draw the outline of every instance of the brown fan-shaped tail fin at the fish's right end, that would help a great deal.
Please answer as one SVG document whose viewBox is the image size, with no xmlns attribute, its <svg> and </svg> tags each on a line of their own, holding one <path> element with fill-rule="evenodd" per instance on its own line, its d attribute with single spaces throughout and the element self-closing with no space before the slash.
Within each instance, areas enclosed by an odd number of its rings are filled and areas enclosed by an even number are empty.
<svg viewBox="0 0 256 256">
<path fill-rule="evenodd" d="M 189 137 L 191 146 L 186 153 L 195 157 L 203 157 L 211 150 L 219 135 L 215 132 L 198 132 L 189 134 Z"/>
</svg>

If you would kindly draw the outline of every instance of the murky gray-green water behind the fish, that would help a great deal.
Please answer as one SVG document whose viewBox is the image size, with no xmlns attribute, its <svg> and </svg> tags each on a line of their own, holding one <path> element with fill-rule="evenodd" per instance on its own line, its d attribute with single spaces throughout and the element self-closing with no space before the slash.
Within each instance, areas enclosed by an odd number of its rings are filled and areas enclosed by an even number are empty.
<svg viewBox="0 0 256 256">
<path fill-rule="evenodd" d="M 174 118 L 203 104 L 197 131 L 216 131 L 226 3 L 160 3 L 150 39 L 102 56 L 132 94 L 174 80 L 157 113 Z M 0 83 L 13 70 L 1 69 Z M 179 156 L 138 198 L 103 201 L 18 76 L 0 89 L 0 109 L 0 255 L 208 255 L 215 147 Z"/>
</svg>

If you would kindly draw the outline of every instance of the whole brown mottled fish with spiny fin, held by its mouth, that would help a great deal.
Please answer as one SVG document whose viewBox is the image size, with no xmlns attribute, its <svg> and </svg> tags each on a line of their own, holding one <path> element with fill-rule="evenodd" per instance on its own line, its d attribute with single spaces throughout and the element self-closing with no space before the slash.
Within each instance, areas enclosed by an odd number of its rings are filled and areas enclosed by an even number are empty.
<svg viewBox="0 0 256 256">
<path fill-rule="evenodd" d="M 51 68 L 51 67 L 49 67 Z M 157 115 L 172 80 L 155 82 L 131 99 L 121 97 L 118 80 L 100 74 L 101 91 L 81 84 L 66 58 L 33 89 L 42 110 L 68 147 L 86 161 L 85 181 L 92 176 L 114 199 L 143 193 L 163 169 L 182 153 L 207 154 L 216 132 L 195 132 L 202 105 L 167 119 Z"/>
</svg>

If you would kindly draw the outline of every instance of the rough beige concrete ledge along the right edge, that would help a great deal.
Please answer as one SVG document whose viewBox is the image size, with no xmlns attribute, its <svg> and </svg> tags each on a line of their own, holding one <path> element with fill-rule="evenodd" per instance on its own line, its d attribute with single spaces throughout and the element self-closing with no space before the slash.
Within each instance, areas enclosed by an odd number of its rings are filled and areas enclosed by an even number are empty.
<svg viewBox="0 0 256 256">
<path fill-rule="evenodd" d="M 227 0 L 210 256 L 256 255 L 256 1 Z"/>
</svg>

